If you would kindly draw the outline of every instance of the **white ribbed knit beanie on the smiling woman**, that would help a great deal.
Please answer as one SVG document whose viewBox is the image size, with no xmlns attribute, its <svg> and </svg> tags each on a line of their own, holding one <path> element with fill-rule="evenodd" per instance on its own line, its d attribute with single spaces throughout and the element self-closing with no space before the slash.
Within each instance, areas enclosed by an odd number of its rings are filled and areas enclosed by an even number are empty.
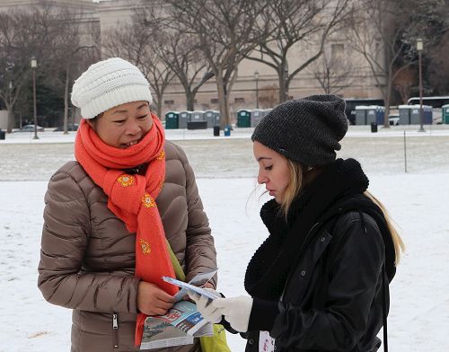
<svg viewBox="0 0 449 352">
<path fill-rule="evenodd" d="M 91 65 L 72 89 L 72 103 L 84 119 L 131 101 L 153 101 L 150 84 L 134 65 L 112 57 Z"/>
</svg>

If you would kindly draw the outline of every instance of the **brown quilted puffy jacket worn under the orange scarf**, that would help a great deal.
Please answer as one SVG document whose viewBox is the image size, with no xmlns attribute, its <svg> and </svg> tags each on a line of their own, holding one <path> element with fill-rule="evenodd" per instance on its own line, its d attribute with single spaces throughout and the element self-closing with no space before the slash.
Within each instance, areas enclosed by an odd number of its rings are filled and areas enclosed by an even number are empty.
<svg viewBox="0 0 449 352">
<path fill-rule="evenodd" d="M 169 142 L 165 154 L 165 184 L 156 202 L 165 235 L 189 279 L 216 268 L 214 240 L 186 155 Z M 45 195 L 38 286 L 49 303 L 74 310 L 72 352 L 138 350 L 136 236 L 110 212 L 107 200 L 76 162 L 51 177 Z M 113 314 L 119 329 L 112 327 Z M 163 350 L 200 349 L 197 341 Z"/>
</svg>

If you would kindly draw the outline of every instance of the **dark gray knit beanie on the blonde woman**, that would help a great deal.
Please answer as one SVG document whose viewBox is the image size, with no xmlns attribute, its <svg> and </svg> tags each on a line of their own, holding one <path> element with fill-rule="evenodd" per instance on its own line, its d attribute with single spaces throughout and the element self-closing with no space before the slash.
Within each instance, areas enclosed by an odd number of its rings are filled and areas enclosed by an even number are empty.
<svg viewBox="0 0 449 352">
<path fill-rule="evenodd" d="M 251 140 L 304 165 L 331 163 L 348 131 L 345 107 L 335 95 L 283 102 L 260 120 Z"/>
</svg>

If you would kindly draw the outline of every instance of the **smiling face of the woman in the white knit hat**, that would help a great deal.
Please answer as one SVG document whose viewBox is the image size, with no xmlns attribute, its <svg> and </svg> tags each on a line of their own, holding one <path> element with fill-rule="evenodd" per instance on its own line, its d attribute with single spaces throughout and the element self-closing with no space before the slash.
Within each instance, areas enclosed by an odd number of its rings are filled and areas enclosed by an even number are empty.
<svg viewBox="0 0 449 352">
<path fill-rule="evenodd" d="M 107 145 L 125 149 L 138 143 L 153 127 L 147 101 L 132 101 L 106 110 L 87 123 Z"/>
</svg>

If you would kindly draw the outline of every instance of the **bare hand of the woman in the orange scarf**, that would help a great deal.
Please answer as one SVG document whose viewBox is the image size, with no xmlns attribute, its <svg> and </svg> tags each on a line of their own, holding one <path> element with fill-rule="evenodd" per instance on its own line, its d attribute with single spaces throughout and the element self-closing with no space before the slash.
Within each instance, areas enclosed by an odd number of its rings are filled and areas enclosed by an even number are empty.
<svg viewBox="0 0 449 352">
<path fill-rule="evenodd" d="M 163 315 L 174 304 L 172 295 L 145 281 L 140 281 L 137 290 L 137 309 L 147 315 Z"/>
</svg>

